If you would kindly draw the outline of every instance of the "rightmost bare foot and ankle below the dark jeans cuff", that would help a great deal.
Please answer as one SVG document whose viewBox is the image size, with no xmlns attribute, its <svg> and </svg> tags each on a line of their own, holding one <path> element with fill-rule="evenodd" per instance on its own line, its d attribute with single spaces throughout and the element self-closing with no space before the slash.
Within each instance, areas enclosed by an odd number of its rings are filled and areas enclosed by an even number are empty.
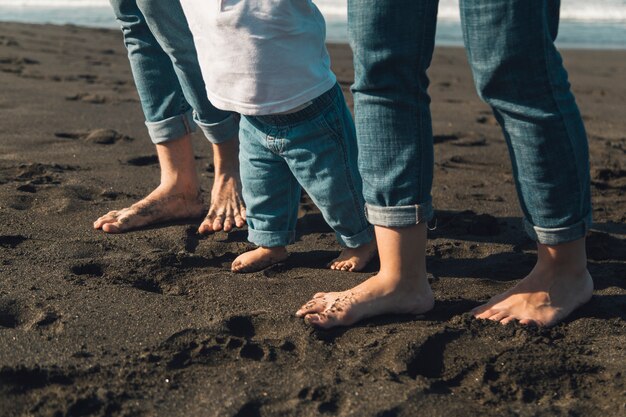
<svg viewBox="0 0 626 417">
<path fill-rule="evenodd" d="M 585 304 L 593 293 L 587 271 L 585 240 L 556 246 L 537 245 L 537 264 L 526 278 L 472 313 L 502 324 L 553 326 Z"/>
</svg>

